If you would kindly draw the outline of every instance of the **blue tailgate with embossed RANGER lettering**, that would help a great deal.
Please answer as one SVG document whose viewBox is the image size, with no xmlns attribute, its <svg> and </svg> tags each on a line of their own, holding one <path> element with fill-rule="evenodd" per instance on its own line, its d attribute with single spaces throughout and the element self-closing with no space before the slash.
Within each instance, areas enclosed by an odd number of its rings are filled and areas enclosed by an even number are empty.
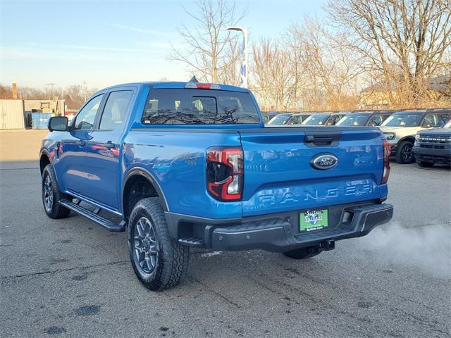
<svg viewBox="0 0 451 338">
<path fill-rule="evenodd" d="M 242 215 L 304 210 L 381 197 L 383 141 L 369 127 L 240 130 L 244 151 Z M 321 154 L 338 158 L 318 170 Z"/>
</svg>

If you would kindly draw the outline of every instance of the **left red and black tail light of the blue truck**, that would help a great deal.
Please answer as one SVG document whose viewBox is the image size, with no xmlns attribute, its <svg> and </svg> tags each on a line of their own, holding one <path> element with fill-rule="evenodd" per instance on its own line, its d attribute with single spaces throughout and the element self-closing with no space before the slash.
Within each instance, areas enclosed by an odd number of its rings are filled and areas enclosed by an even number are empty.
<svg viewBox="0 0 451 338">
<path fill-rule="evenodd" d="M 243 187 L 240 147 L 214 147 L 206 153 L 206 187 L 219 201 L 240 201 Z"/>
</svg>

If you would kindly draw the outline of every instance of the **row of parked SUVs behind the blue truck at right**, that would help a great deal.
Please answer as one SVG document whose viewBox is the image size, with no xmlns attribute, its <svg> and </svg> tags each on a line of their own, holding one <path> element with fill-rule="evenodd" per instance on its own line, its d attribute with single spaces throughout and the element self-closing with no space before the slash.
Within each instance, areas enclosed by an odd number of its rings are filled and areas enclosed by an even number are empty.
<svg viewBox="0 0 451 338">
<path fill-rule="evenodd" d="M 264 113 L 268 127 L 299 125 L 379 127 L 397 163 L 451 164 L 451 109 Z"/>
</svg>

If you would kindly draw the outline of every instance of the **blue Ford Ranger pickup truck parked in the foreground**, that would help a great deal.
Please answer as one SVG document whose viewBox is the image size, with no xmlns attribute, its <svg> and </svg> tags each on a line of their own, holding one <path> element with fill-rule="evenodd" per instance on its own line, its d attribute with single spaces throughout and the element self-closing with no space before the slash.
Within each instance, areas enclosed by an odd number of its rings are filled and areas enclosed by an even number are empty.
<svg viewBox="0 0 451 338">
<path fill-rule="evenodd" d="M 128 232 L 149 289 L 173 287 L 190 246 L 309 258 L 388 222 L 390 145 L 373 127 L 264 127 L 247 89 L 144 82 L 49 120 L 42 201 Z"/>
</svg>

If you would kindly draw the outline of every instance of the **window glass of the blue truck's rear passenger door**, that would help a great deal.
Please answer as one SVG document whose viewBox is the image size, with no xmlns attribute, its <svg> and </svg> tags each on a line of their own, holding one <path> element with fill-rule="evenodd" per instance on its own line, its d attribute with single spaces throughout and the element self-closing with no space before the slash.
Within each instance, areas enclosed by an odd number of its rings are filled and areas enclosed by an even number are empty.
<svg viewBox="0 0 451 338">
<path fill-rule="evenodd" d="M 132 94 L 131 90 L 121 90 L 109 94 L 104 112 L 101 115 L 99 129 L 115 130 L 125 123 Z"/>
</svg>

